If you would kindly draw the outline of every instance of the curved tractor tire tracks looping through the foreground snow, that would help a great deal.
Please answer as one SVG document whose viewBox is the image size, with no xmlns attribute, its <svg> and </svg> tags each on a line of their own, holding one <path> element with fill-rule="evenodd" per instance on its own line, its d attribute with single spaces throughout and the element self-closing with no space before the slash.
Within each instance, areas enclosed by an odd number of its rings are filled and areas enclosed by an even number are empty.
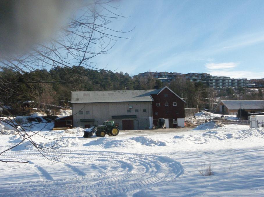
<svg viewBox="0 0 264 197">
<path fill-rule="evenodd" d="M 9 184 L 6 186 L 12 187 L 14 190 L 13 192 L 6 191 L 6 193 L 3 185 L 0 184 L 0 194 L 5 194 L 4 196 L 31 196 L 29 194 L 33 192 L 33 196 L 42 193 L 56 196 L 59 191 L 59 194 L 63 196 L 72 196 L 73 193 L 75 196 L 83 194 L 85 196 L 117 195 L 133 190 L 147 189 L 157 183 L 166 183 L 184 172 L 179 162 L 163 156 L 79 150 L 56 152 L 58 155 L 61 153 L 74 161 L 63 165 L 54 163 L 54 165 L 69 168 L 75 175 L 78 175 L 77 177 L 65 177 L 67 180 L 65 178 L 53 180 L 52 174 L 49 174 L 43 167 L 31 163 L 39 176 L 43 180 L 49 181 L 44 182 L 43 186 L 32 184 L 32 187 L 23 183 Z M 31 154 L 38 153 L 31 152 Z M 21 152 L 21 157 L 23 156 L 24 153 Z M 83 169 L 84 165 L 85 169 L 91 169 L 94 165 L 98 166 L 98 173 L 89 174 Z M 49 171 L 49 169 L 47 170 Z M 3 190 L 1 191 L 1 189 Z"/>
</svg>

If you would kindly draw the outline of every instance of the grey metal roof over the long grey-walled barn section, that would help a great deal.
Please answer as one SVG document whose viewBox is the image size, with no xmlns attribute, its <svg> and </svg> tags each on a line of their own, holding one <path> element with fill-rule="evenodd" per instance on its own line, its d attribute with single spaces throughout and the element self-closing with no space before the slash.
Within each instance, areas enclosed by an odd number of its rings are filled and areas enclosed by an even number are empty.
<svg viewBox="0 0 264 197">
<path fill-rule="evenodd" d="M 112 90 L 112 91 L 76 91 L 72 92 L 71 103 L 108 103 L 153 101 L 150 94 L 160 90 Z"/>
</svg>

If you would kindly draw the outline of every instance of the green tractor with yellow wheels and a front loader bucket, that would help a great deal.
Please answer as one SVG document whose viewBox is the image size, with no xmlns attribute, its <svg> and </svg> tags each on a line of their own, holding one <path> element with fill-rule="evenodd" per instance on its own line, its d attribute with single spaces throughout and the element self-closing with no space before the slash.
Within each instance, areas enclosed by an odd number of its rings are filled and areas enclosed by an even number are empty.
<svg viewBox="0 0 264 197">
<path fill-rule="evenodd" d="M 90 131 L 84 131 L 83 137 L 90 138 L 93 133 L 95 133 L 97 137 L 104 137 L 106 134 L 109 136 L 117 136 L 119 134 L 119 129 L 114 121 L 104 121 L 103 125 L 94 125 Z"/>
</svg>

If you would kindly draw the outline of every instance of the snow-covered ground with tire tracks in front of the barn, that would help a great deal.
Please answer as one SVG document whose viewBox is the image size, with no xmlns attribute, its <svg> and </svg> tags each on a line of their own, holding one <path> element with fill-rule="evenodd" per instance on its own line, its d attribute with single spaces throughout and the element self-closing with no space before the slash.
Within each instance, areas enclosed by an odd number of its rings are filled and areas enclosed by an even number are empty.
<svg viewBox="0 0 264 197">
<path fill-rule="evenodd" d="M 1 159 L 29 163 L 0 163 L 0 196 L 264 196 L 262 128 L 206 123 L 84 139 L 83 129 L 49 132 L 49 124 L 41 133 L 66 146 L 53 152 L 63 154 L 60 163 L 28 143 L 4 153 Z M 19 142 L 7 133 L 0 151 Z M 202 176 L 210 163 L 213 175 Z"/>
</svg>

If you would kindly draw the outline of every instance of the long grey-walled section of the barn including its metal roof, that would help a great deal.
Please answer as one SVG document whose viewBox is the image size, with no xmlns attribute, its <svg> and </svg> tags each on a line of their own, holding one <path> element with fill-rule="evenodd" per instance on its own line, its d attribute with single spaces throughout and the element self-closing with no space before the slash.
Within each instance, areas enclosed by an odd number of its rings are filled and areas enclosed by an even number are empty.
<svg viewBox="0 0 264 197">
<path fill-rule="evenodd" d="M 152 97 L 158 90 L 72 92 L 73 126 L 89 128 L 113 120 L 119 129 L 153 127 Z"/>
</svg>

